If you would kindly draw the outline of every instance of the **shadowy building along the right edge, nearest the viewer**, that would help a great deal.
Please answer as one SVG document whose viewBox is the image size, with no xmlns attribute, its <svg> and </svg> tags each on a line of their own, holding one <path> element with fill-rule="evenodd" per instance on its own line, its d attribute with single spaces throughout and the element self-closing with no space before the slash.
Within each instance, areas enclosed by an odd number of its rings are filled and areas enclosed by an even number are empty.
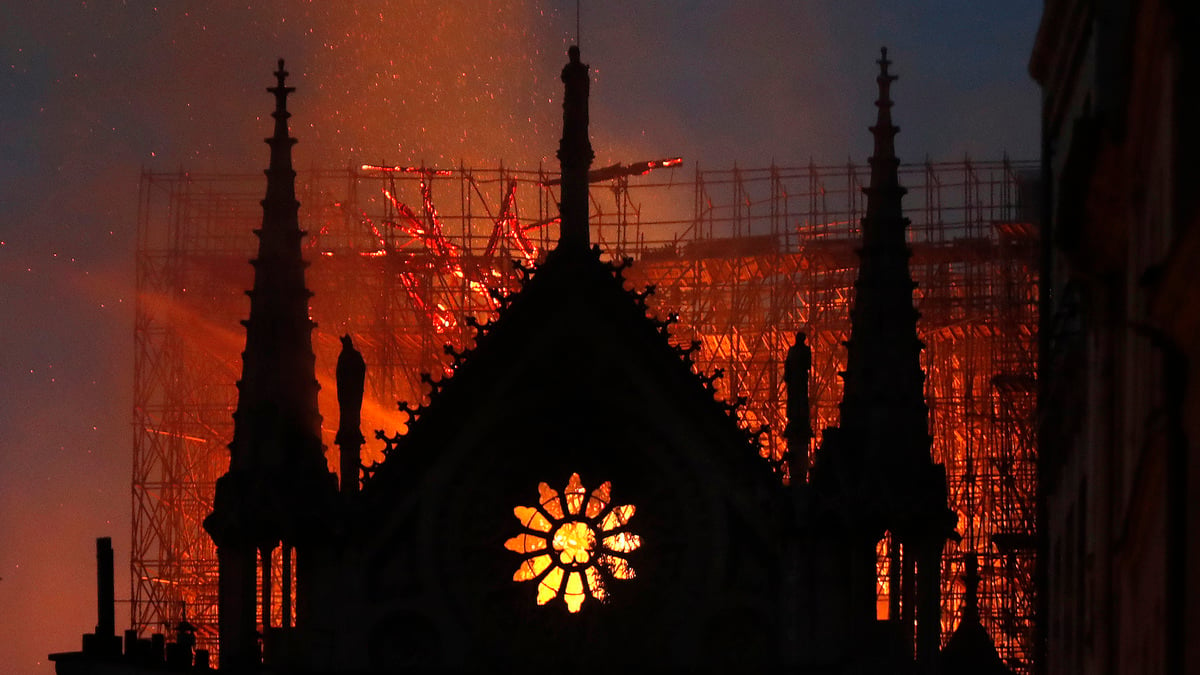
<svg viewBox="0 0 1200 675">
<path fill-rule="evenodd" d="M 1050 674 L 1200 673 L 1196 13 L 1052 0 L 1033 50 Z"/>
</svg>

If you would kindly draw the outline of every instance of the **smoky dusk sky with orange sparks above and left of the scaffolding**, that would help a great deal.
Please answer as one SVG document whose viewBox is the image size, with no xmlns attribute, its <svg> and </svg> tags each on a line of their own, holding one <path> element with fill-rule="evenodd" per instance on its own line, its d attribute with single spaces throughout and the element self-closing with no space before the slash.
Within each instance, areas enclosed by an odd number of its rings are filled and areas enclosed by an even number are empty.
<svg viewBox="0 0 1200 675">
<path fill-rule="evenodd" d="M 1040 11 L 583 2 L 596 165 L 865 162 L 883 44 L 902 161 L 1036 159 Z M 140 172 L 265 167 L 281 56 L 298 167 L 551 166 L 575 24 L 572 0 L 0 2 L 0 670 L 79 649 L 96 537 L 130 595 Z"/>
</svg>

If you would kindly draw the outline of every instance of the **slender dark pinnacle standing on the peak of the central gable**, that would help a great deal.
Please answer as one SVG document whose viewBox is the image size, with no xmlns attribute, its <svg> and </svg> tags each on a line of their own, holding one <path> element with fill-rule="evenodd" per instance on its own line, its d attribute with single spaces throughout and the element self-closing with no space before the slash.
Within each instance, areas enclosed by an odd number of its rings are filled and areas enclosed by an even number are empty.
<svg viewBox="0 0 1200 675">
<path fill-rule="evenodd" d="M 592 142 L 588 139 L 588 92 L 592 86 L 587 64 L 580 62 L 580 48 L 568 50 L 570 61 L 563 67 L 563 138 L 558 142 L 562 167 L 559 202 L 559 249 L 587 250 L 588 169 L 592 167 Z"/>
</svg>

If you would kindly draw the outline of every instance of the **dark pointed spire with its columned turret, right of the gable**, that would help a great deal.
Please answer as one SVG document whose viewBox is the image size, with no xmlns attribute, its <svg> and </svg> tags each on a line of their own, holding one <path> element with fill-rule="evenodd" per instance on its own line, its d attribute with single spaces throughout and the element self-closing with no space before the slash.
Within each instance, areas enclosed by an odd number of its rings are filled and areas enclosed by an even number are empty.
<svg viewBox="0 0 1200 675">
<path fill-rule="evenodd" d="M 827 430 L 811 470 L 815 504 L 839 514 L 853 569 L 848 592 L 856 634 L 874 621 L 876 544 L 890 533 L 892 589 L 902 595 L 901 616 L 893 616 L 905 640 L 916 640 L 918 673 L 937 667 L 941 637 L 942 549 L 953 537 L 955 516 L 947 507 L 946 470 L 930 453 L 924 345 L 917 338 L 916 283 L 908 271 L 906 232 L 892 124 L 892 61 L 878 60 L 880 95 L 871 135 L 871 183 L 862 220 L 858 279 L 846 341 L 841 419 Z M 896 573 L 899 572 L 899 573 Z M 892 598 L 889 598 L 892 599 Z M 913 611 L 916 610 L 916 611 Z"/>
</svg>

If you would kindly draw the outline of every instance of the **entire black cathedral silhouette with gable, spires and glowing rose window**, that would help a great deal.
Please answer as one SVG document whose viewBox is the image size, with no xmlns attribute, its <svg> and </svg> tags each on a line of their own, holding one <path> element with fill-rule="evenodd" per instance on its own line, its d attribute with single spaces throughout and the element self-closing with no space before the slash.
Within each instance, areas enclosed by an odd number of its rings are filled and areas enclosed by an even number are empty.
<svg viewBox="0 0 1200 675">
<path fill-rule="evenodd" d="M 956 522 L 930 455 L 887 52 L 840 424 L 811 467 L 790 458 L 805 468 L 791 482 L 715 398 L 720 374 L 696 372 L 698 345 L 673 346 L 652 289 L 590 245 L 589 74 L 569 58 L 558 246 L 469 350 L 448 347 L 454 365 L 401 404 L 407 430 L 380 432 L 370 467 L 355 459 L 370 372 L 343 339 L 340 485 L 318 434 L 281 61 L 236 429 L 205 520 L 222 670 L 1003 673 L 973 587 L 954 649 L 940 645 Z M 803 338 L 786 435 L 806 449 Z"/>
</svg>

